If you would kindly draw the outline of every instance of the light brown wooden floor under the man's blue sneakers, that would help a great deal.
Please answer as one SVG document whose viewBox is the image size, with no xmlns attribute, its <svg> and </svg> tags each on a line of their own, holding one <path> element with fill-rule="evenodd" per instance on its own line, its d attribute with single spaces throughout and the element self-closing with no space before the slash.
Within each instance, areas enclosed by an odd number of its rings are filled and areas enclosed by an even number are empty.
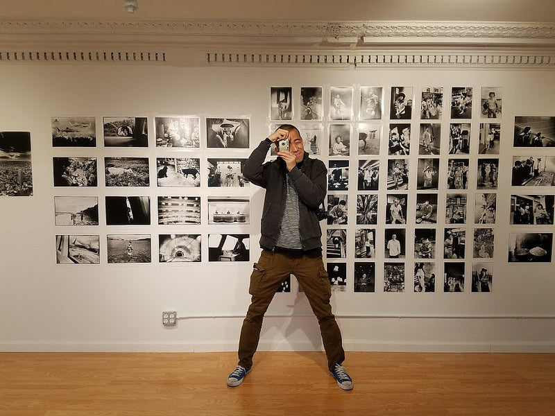
<svg viewBox="0 0 555 416">
<path fill-rule="evenodd" d="M 340 390 L 317 352 L 0 354 L 0 415 L 555 415 L 555 354 L 350 352 Z"/>
</svg>

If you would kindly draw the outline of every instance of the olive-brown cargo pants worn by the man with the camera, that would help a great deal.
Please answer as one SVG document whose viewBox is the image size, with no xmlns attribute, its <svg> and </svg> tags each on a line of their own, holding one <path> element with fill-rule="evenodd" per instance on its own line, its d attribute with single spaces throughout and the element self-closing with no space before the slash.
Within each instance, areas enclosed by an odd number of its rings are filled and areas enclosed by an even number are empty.
<svg viewBox="0 0 555 416">
<path fill-rule="evenodd" d="M 332 370 L 336 363 L 341 364 L 345 360 L 341 331 L 330 305 L 332 292 L 330 280 L 324 268 L 322 252 L 316 250 L 307 254 L 287 252 L 287 250 L 276 252 L 262 250 L 260 259 L 255 263 L 253 273 L 250 275 L 248 292 L 252 298 L 239 338 L 239 365 L 246 370 L 253 365 L 264 313 L 282 281 L 291 274 L 299 281 L 314 315 L 318 318 L 328 367 Z"/>
</svg>

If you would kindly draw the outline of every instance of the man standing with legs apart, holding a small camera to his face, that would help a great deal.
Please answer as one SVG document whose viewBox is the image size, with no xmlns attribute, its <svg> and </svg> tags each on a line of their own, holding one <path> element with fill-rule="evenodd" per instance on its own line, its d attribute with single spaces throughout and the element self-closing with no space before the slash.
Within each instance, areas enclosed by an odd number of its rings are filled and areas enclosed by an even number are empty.
<svg viewBox="0 0 555 416">
<path fill-rule="evenodd" d="M 284 139 L 289 140 L 289 151 L 278 151 L 278 159 L 264 163 L 270 146 Z M 264 313 L 282 281 L 293 274 L 318 318 L 328 368 L 340 388 L 351 390 L 352 379 L 341 365 L 345 352 L 330 306 L 330 280 L 322 259 L 318 207 L 326 192 L 325 164 L 309 158 L 298 129 L 284 124 L 253 150 L 244 175 L 266 189 L 261 221 L 262 253 L 250 275 L 252 298 L 239 338 L 239 363 L 228 376 L 228 385 L 240 385 L 250 371 Z"/>
</svg>

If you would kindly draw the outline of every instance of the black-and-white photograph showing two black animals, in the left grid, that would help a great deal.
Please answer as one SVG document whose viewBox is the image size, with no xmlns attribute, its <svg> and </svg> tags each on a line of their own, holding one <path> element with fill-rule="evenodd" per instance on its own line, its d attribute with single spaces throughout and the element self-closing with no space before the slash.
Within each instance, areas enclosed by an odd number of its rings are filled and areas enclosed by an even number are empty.
<svg viewBox="0 0 555 416">
<path fill-rule="evenodd" d="M 156 184 L 159 187 L 200 187 L 200 159 L 157 157 Z"/>
</svg>

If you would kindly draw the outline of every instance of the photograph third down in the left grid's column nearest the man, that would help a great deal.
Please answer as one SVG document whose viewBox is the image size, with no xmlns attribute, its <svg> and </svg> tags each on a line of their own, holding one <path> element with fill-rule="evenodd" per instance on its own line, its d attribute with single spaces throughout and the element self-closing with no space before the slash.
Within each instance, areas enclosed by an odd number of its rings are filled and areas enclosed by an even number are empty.
<svg viewBox="0 0 555 416">
<path fill-rule="evenodd" d="M 209 196 L 209 224 L 250 224 L 248 196 Z"/>
</svg>

